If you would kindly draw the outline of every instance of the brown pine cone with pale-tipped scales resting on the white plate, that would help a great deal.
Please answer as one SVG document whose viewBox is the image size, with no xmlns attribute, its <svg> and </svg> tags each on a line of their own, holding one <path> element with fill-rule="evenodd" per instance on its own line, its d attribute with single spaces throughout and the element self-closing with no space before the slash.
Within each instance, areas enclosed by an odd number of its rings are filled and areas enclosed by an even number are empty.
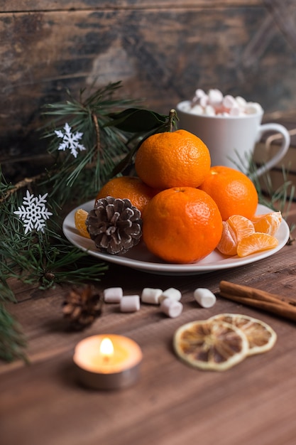
<svg viewBox="0 0 296 445">
<path fill-rule="evenodd" d="M 107 196 L 97 200 L 86 225 L 96 247 L 110 254 L 127 252 L 142 235 L 141 212 L 129 199 Z"/>
</svg>

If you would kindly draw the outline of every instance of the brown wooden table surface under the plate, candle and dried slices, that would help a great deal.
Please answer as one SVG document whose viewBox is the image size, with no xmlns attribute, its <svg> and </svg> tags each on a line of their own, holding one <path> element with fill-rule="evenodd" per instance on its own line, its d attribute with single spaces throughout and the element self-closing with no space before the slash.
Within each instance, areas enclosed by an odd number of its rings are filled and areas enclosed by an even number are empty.
<svg viewBox="0 0 296 445">
<path fill-rule="evenodd" d="M 253 264 L 187 277 L 110 265 L 100 290 L 121 286 L 124 294 L 138 294 L 146 286 L 175 287 L 182 291 L 184 310 L 167 318 L 157 306 L 120 313 L 118 306 L 104 304 L 102 316 L 80 333 L 65 331 L 67 288 L 44 292 L 16 284 L 18 304 L 10 309 L 28 337 L 31 365 L 0 365 L 1 445 L 295 445 L 295 323 L 219 295 L 211 309 L 193 300 L 194 289 L 217 292 L 221 279 L 296 299 L 295 275 L 296 243 Z M 172 350 L 175 330 L 224 312 L 269 323 L 278 334 L 274 348 L 225 372 L 196 370 L 178 360 Z M 73 350 L 82 338 L 107 332 L 141 346 L 141 377 L 125 390 L 86 389 L 77 382 Z"/>
</svg>

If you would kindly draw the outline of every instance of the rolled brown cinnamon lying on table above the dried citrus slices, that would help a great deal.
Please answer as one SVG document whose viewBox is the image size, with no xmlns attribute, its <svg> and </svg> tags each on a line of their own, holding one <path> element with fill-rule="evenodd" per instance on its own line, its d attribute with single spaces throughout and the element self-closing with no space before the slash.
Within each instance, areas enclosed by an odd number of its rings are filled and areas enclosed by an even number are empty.
<svg viewBox="0 0 296 445">
<path fill-rule="evenodd" d="M 253 287 L 223 281 L 220 282 L 220 295 L 226 299 L 296 321 L 296 306 L 292 299 Z"/>
</svg>

